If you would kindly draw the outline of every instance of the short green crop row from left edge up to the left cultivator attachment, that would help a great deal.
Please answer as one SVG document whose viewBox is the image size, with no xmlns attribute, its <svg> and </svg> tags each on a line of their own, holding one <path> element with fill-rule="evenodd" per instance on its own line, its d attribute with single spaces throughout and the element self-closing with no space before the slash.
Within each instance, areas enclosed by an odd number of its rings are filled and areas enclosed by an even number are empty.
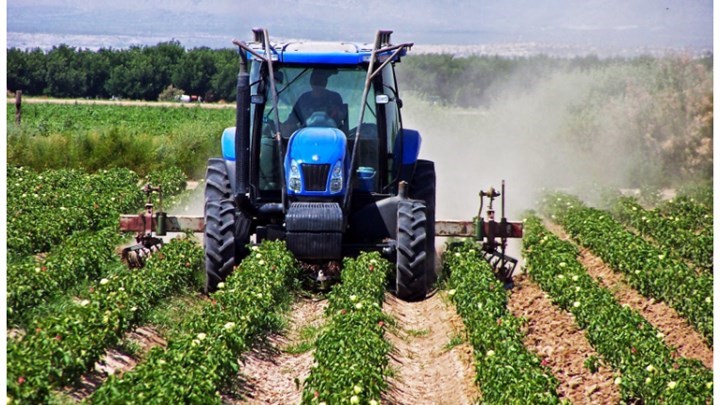
<svg viewBox="0 0 720 405">
<path fill-rule="evenodd" d="M 7 315 L 10 325 L 24 323 L 32 309 L 81 280 L 96 280 L 112 263 L 120 235 L 112 230 L 80 231 L 55 245 L 44 259 L 32 256 L 8 263 Z"/>
</svg>

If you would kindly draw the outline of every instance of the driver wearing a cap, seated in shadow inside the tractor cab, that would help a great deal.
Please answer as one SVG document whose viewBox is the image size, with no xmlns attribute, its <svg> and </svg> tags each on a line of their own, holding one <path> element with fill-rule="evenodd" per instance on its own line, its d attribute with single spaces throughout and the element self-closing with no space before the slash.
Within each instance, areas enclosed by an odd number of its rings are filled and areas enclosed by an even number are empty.
<svg viewBox="0 0 720 405">
<path fill-rule="evenodd" d="M 285 125 L 291 128 L 290 132 L 301 126 L 340 126 L 345 119 L 342 97 L 326 89 L 328 78 L 333 74 L 333 71 L 323 69 L 314 69 L 310 74 L 312 90 L 298 98 L 285 121 Z"/>
</svg>

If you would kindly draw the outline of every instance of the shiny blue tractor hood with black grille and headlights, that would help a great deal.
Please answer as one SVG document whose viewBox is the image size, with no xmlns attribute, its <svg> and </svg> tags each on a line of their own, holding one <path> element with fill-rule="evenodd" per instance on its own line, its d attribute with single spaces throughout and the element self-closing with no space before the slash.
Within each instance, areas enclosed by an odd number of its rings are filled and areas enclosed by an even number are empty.
<svg viewBox="0 0 720 405">
<path fill-rule="evenodd" d="M 288 196 L 342 196 L 346 151 L 347 138 L 337 128 L 297 130 L 290 137 L 284 162 Z"/>
</svg>

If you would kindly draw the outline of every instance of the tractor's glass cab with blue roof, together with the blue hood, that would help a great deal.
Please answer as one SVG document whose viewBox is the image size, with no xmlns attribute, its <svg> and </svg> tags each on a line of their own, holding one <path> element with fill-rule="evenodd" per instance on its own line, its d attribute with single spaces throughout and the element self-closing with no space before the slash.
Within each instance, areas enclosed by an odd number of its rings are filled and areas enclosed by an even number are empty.
<svg viewBox="0 0 720 405">
<path fill-rule="evenodd" d="M 288 201 L 339 201 L 348 188 L 397 190 L 392 172 L 401 153 L 395 150 L 401 130 L 394 75 L 399 56 L 372 78 L 364 95 L 369 45 L 308 42 L 273 49 L 274 86 L 268 63 L 249 62 L 251 198 L 280 201 L 285 193 Z"/>
</svg>

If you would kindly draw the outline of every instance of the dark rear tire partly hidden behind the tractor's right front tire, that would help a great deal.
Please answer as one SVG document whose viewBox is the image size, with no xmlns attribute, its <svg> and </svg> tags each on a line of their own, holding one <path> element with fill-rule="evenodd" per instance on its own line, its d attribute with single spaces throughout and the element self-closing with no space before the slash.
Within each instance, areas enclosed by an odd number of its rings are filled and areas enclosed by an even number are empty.
<svg viewBox="0 0 720 405">
<path fill-rule="evenodd" d="M 415 174 L 410 182 L 410 198 L 425 202 L 425 236 L 427 238 L 427 257 L 425 259 L 426 283 L 428 290 L 437 281 L 435 270 L 435 163 L 418 160 Z"/>
</svg>

